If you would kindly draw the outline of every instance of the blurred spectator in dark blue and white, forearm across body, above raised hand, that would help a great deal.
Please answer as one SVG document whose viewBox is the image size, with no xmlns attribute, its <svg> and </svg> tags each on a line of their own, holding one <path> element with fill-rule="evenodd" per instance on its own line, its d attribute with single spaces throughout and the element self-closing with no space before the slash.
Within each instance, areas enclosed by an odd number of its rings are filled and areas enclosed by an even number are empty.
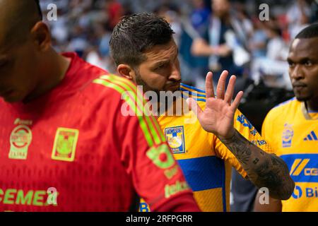
<svg viewBox="0 0 318 226">
<path fill-rule="evenodd" d="M 214 83 L 217 83 L 223 69 L 227 69 L 230 74 L 242 76 L 242 68 L 240 67 L 242 65 L 237 66 L 235 64 L 234 55 L 240 54 L 240 56 L 237 55 L 236 57 L 239 57 L 243 61 L 247 57 L 244 55 L 246 52 L 242 50 L 240 40 L 235 32 L 235 28 L 237 28 L 237 24 L 240 24 L 240 22 L 237 18 L 231 16 L 230 7 L 229 0 L 213 0 L 213 11 L 208 32 L 203 38 L 196 38 L 192 45 L 193 54 L 209 57 L 206 68 L 213 71 Z M 242 50 L 242 52 L 237 52 L 237 50 Z M 204 75 L 201 76 L 196 78 L 196 86 L 199 88 L 204 87 Z"/>
</svg>

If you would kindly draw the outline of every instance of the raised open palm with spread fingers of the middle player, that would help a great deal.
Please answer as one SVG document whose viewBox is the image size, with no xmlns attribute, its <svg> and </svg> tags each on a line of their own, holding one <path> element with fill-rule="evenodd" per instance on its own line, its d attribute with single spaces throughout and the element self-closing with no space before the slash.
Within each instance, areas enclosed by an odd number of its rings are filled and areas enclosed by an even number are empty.
<svg viewBox="0 0 318 226">
<path fill-rule="evenodd" d="M 206 108 L 204 110 L 199 107 L 192 98 L 187 100 L 188 105 L 198 117 L 204 130 L 214 133 L 218 138 L 231 138 L 234 133 L 234 114 L 240 105 L 243 92 L 237 94 L 232 102 L 234 94 L 236 76 L 231 76 L 228 88 L 225 93 L 225 81 L 228 71 L 223 71 L 216 88 L 216 97 L 213 90 L 213 73 L 208 72 L 206 76 Z"/>
</svg>

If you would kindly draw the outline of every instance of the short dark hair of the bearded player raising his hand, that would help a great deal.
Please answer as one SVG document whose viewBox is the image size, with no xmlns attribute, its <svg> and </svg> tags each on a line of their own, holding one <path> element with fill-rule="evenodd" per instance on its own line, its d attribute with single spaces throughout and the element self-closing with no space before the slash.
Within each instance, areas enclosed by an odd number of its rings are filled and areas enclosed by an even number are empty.
<svg viewBox="0 0 318 226">
<path fill-rule="evenodd" d="M 128 64 L 136 69 L 146 60 L 144 52 L 155 45 L 169 43 L 174 33 L 165 19 L 153 13 L 124 16 L 112 32 L 112 58 L 116 65 Z"/>
</svg>

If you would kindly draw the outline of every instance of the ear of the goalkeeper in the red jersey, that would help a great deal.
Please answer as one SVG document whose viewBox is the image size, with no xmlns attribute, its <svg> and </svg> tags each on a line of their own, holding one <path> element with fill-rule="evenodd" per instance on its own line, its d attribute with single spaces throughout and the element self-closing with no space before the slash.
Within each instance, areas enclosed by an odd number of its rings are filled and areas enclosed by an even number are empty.
<svg viewBox="0 0 318 226">
<path fill-rule="evenodd" d="M 51 47 L 51 35 L 49 28 L 42 21 L 37 22 L 32 30 L 31 37 L 40 52 L 45 52 Z"/>
</svg>

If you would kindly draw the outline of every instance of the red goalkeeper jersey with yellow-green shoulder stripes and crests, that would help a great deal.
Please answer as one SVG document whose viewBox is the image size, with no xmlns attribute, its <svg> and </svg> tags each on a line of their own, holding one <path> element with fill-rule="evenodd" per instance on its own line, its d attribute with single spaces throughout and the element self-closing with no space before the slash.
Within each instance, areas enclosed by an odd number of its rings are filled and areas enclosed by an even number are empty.
<svg viewBox="0 0 318 226">
<path fill-rule="evenodd" d="M 143 112 L 135 86 L 64 57 L 49 93 L 0 100 L 0 211 L 128 211 L 137 195 L 153 210 L 198 210 L 155 119 L 122 114 Z"/>
</svg>

